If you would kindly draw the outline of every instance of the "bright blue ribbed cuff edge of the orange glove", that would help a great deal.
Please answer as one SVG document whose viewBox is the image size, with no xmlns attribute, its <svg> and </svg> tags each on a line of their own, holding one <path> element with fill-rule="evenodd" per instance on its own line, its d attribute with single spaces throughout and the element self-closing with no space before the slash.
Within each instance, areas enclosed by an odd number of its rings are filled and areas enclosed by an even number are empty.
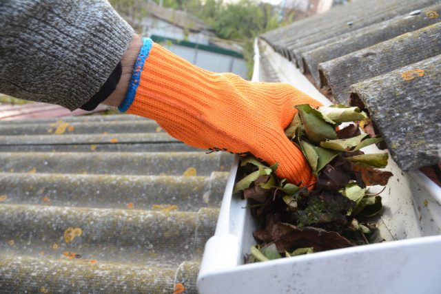
<svg viewBox="0 0 441 294">
<path fill-rule="evenodd" d="M 152 49 L 153 41 L 150 38 L 143 38 L 143 47 L 141 48 L 141 52 L 139 53 L 138 60 L 136 61 L 136 65 L 133 71 L 132 80 L 130 80 L 129 90 L 127 91 L 127 95 L 125 95 L 123 103 L 118 107 L 120 112 L 127 112 L 130 105 L 132 105 L 136 89 L 139 86 L 139 80 L 141 77 L 141 72 L 143 72 L 145 59 L 149 56 L 150 50 Z"/>
</svg>

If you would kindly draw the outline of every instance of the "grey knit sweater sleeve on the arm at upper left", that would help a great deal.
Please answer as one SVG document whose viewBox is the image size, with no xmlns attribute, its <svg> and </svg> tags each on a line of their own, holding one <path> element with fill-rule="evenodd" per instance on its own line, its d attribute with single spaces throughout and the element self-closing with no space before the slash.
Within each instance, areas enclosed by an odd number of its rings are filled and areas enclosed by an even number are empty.
<svg viewBox="0 0 441 294">
<path fill-rule="evenodd" d="M 79 108 L 132 35 L 106 0 L 0 0 L 0 93 Z"/>
</svg>

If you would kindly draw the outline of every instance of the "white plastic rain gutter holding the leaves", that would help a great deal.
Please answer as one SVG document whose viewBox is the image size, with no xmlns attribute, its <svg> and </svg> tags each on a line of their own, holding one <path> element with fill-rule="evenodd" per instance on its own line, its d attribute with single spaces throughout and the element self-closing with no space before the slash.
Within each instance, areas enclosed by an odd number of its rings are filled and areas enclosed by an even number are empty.
<svg viewBox="0 0 441 294">
<path fill-rule="evenodd" d="M 259 81 L 256 41 L 254 48 L 252 81 Z M 302 74 L 298 76 L 294 64 L 268 45 L 265 55 L 278 76 L 285 78 L 281 81 L 325 105 L 331 104 Z M 387 152 L 375 145 L 363 151 Z M 252 232 L 261 228 L 250 209 L 242 209 L 248 202 L 232 195 L 234 183 L 242 176 L 237 174 L 238 162 L 236 156 L 216 233 L 205 245 L 197 281 L 199 293 L 440 293 L 441 188 L 420 171 L 404 173 L 393 160 L 386 169 L 394 176 L 389 180 L 389 189 L 381 194 L 384 209 L 378 226 L 384 239 L 397 241 L 244 264 L 245 254 L 257 244 Z M 380 187 L 371 191 L 380 191 Z"/>
</svg>

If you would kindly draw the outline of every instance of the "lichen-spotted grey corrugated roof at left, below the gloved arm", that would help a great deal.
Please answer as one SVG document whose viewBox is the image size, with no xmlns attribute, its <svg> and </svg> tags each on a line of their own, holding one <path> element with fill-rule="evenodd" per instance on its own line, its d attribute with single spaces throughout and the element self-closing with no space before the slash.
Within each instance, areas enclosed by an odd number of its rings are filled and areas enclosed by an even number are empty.
<svg viewBox="0 0 441 294">
<path fill-rule="evenodd" d="M 131 115 L 57 120 L 0 123 L 2 290 L 197 293 L 231 154 Z"/>
</svg>

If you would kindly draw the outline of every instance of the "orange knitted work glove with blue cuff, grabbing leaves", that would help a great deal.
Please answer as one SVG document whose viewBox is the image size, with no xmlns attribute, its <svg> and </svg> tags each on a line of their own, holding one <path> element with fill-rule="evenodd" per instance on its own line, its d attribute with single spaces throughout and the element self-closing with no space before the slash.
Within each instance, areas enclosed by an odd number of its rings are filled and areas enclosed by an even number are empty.
<svg viewBox="0 0 441 294">
<path fill-rule="evenodd" d="M 202 70 L 143 39 L 121 112 L 152 118 L 174 138 L 201 149 L 253 154 L 298 185 L 315 178 L 302 152 L 285 136 L 295 105 L 322 104 L 291 85 L 245 81 Z"/>
</svg>

